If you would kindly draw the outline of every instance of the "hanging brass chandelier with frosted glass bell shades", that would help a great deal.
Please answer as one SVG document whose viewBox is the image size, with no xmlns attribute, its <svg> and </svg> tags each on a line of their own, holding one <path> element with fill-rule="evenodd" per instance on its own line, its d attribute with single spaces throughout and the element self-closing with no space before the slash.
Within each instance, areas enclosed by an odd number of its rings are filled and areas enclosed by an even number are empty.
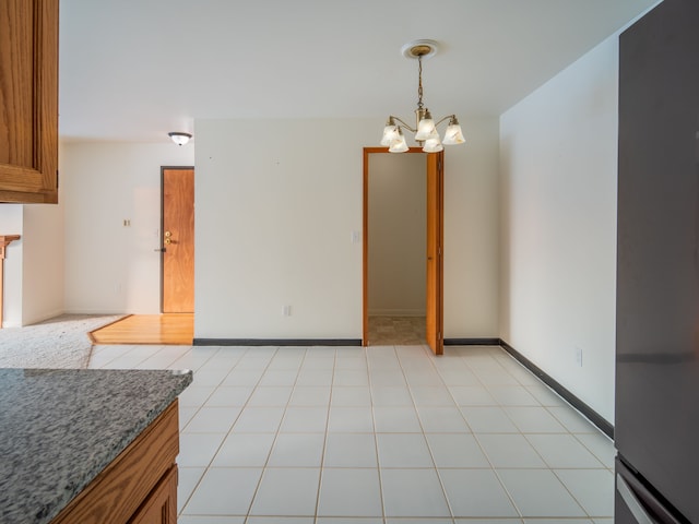
<svg viewBox="0 0 699 524">
<path fill-rule="evenodd" d="M 405 143 L 403 129 L 415 133 L 415 141 L 423 146 L 425 153 L 437 153 L 442 151 L 443 145 L 463 144 L 465 142 L 459 120 L 455 115 L 450 115 L 435 122 L 433 116 L 423 104 L 423 59 L 434 57 L 437 52 L 435 40 L 413 40 L 405 44 L 401 51 L 405 58 L 417 59 L 417 109 L 415 109 L 415 128 L 410 127 L 398 117 L 390 116 L 383 128 L 381 145 L 388 145 L 391 153 L 403 153 L 408 150 Z M 437 126 L 449 120 L 445 139 L 440 140 Z M 400 122 L 400 123 L 396 123 Z"/>
</svg>

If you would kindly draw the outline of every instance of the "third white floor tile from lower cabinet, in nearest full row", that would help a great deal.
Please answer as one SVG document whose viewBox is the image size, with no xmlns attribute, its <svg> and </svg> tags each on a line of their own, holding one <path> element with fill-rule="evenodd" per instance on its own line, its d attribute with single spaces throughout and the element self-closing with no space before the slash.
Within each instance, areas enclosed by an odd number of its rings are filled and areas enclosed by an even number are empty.
<svg viewBox="0 0 699 524">
<path fill-rule="evenodd" d="M 382 516 L 379 474 L 375 468 L 324 468 L 318 500 L 319 516 Z"/>
</svg>

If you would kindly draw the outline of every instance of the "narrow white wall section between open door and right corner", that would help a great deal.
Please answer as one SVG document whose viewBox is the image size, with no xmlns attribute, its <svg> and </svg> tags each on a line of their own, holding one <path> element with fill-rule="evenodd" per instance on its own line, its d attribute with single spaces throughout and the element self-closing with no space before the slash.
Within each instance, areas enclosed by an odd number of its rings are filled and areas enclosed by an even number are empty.
<svg viewBox="0 0 699 524">
<path fill-rule="evenodd" d="M 445 338 L 498 337 L 498 120 L 464 119 L 445 147 Z"/>
</svg>

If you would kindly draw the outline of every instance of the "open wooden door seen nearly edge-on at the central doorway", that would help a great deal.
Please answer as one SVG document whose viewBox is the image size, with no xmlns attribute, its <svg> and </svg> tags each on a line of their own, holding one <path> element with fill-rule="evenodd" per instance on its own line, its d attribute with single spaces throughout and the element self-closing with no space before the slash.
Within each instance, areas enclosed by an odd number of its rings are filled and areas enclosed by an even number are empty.
<svg viewBox="0 0 699 524">
<path fill-rule="evenodd" d="M 443 152 L 427 155 L 427 305 L 425 331 L 435 355 L 443 354 Z"/>
</svg>

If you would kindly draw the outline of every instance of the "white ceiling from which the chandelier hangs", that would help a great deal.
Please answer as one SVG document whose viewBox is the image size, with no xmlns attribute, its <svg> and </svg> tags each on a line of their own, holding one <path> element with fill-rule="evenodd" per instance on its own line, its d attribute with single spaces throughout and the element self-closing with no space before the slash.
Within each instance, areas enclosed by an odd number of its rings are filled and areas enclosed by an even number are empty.
<svg viewBox="0 0 699 524">
<path fill-rule="evenodd" d="M 166 142 L 197 118 L 497 116 L 657 0 L 60 0 L 60 135 Z M 380 134 L 380 129 L 377 131 Z"/>
</svg>

